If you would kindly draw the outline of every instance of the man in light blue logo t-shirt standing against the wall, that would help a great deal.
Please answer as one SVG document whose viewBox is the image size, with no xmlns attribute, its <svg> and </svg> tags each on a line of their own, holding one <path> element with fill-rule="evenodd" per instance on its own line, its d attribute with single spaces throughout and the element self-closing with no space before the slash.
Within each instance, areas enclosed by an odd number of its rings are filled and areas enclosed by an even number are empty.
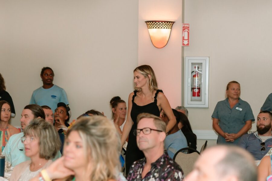
<svg viewBox="0 0 272 181">
<path fill-rule="evenodd" d="M 43 81 L 43 86 L 33 91 L 30 104 L 47 105 L 53 112 L 57 108 L 57 103 L 69 104 L 65 90 L 53 84 L 54 76 L 52 68 L 42 68 L 40 78 Z"/>
</svg>

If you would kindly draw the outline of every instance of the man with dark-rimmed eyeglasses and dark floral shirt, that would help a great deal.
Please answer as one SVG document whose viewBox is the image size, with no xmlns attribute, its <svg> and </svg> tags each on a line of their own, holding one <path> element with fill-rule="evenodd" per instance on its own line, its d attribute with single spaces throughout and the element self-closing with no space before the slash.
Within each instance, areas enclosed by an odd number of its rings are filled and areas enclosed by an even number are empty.
<svg viewBox="0 0 272 181">
<path fill-rule="evenodd" d="M 159 117 L 148 113 L 138 115 L 134 135 L 145 157 L 132 164 L 128 181 L 183 180 L 182 169 L 164 151 L 165 132 L 166 124 Z"/>
</svg>

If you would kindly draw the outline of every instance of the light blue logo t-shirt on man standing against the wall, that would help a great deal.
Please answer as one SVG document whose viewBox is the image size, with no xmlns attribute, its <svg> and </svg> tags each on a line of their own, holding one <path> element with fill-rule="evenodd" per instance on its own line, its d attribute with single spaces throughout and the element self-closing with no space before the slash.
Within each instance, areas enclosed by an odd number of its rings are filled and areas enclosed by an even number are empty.
<svg viewBox="0 0 272 181">
<path fill-rule="evenodd" d="M 57 85 L 49 89 L 40 87 L 33 91 L 30 104 L 38 104 L 39 106 L 49 106 L 53 113 L 57 108 L 57 104 L 63 102 L 69 104 L 65 90 Z"/>
</svg>

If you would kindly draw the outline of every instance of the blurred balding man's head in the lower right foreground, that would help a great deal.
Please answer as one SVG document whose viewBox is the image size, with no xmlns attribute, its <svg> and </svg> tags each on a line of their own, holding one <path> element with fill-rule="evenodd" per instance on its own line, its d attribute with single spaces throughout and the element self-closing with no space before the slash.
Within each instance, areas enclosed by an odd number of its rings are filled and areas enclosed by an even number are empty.
<svg viewBox="0 0 272 181">
<path fill-rule="evenodd" d="M 256 181 L 257 168 L 253 157 L 242 148 L 215 146 L 208 148 L 196 161 L 186 181 Z"/>
</svg>

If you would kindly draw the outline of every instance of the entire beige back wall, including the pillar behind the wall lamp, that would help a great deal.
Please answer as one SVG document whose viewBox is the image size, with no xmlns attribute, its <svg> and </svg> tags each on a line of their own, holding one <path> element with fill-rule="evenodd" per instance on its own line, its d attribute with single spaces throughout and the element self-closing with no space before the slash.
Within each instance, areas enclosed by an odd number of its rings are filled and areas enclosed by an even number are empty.
<svg viewBox="0 0 272 181">
<path fill-rule="evenodd" d="M 264 0 L 184 0 L 184 7 L 179 0 L 1 0 L 0 71 L 15 103 L 12 124 L 19 125 L 21 110 L 42 85 L 43 66 L 53 68 L 54 83 L 66 90 L 73 119 L 92 108 L 110 117 L 109 100 L 119 95 L 127 101 L 132 71 L 142 64 L 154 68 L 170 105 L 180 105 L 183 53 L 210 57 L 209 108 L 188 109 L 193 129 L 212 130 L 212 112 L 232 80 L 241 83 L 241 98 L 256 116 L 272 89 L 271 5 Z M 184 51 L 182 13 L 191 28 Z M 176 21 L 162 49 L 151 44 L 144 23 L 156 19 Z"/>
</svg>

